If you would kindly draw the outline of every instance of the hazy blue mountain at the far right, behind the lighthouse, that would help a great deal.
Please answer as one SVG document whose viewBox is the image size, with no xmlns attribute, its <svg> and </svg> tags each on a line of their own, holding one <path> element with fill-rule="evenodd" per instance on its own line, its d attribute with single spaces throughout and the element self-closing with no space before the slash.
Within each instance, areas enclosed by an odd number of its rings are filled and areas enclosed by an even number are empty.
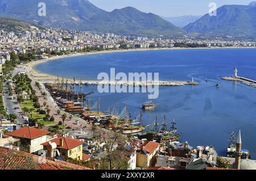
<svg viewBox="0 0 256 181">
<path fill-rule="evenodd" d="M 249 6 L 225 5 L 217 9 L 217 16 L 204 15 L 184 27 L 187 32 L 209 33 L 212 35 L 255 36 L 256 3 Z"/>
</svg>

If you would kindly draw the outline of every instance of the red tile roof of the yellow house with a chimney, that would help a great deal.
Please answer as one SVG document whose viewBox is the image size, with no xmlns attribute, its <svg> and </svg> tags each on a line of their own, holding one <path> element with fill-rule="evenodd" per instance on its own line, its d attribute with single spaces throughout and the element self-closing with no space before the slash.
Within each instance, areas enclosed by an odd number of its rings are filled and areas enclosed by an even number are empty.
<svg viewBox="0 0 256 181">
<path fill-rule="evenodd" d="M 63 139 L 63 146 L 60 146 L 60 139 L 61 138 Z M 65 149 L 65 150 L 70 150 L 70 149 L 76 148 L 77 146 L 80 146 L 84 143 L 80 140 L 67 138 L 67 137 L 63 137 L 63 136 L 54 138 L 53 140 L 50 140 L 50 141 L 55 142 L 56 145 L 57 145 L 57 148 Z M 48 142 L 44 142 L 42 145 L 47 146 Z"/>
</svg>

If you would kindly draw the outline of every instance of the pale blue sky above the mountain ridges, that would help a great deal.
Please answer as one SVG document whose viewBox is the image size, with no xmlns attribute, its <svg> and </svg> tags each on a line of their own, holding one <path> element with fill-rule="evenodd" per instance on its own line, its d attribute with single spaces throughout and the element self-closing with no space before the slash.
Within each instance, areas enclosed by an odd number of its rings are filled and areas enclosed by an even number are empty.
<svg viewBox="0 0 256 181">
<path fill-rule="evenodd" d="M 153 12 L 162 16 L 204 15 L 209 3 L 222 5 L 249 5 L 253 0 L 89 0 L 106 11 L 132 6 L 140 11 Z M 255 0 L 254 0 L 255 1 Z"/>
</svg>

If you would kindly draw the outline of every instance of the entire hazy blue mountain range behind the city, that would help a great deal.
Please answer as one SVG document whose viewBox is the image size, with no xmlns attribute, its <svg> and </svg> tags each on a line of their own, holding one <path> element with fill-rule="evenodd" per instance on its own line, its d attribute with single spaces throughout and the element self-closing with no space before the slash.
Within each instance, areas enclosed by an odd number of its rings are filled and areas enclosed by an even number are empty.
<svg viewBox="0 0 256 181">
<path fill-rule="evenodd" d="M 94 6 L 88 0 L 44 0 L 46 16 L 39 16 L 39 2 L 42 1 L 0 0 L 0 18 L 15 18 L 44 27 L 113 32 L 120 35 L 173 37 L 185 33 L 201 33 L 212 36 L 256 37 L 256 2 L 251 2 L 248 6 L 221 6 L 217 9 L 217 16 L 205 14 L 201 18 L 181 16 L 165 19 L 134 7 L 109 12 Z M 180 28 L 185 24 L 188 25 Z"/>
</svg>

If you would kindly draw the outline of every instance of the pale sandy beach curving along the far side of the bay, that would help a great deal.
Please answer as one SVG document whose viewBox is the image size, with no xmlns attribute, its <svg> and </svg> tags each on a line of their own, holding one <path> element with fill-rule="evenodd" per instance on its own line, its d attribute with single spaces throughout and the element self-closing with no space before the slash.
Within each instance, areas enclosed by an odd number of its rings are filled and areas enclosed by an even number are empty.
<svg viewBox="0 0 256 181">
<path fill-rule="evenodd" d="M 43 73 L 42 71 L 36 70 L 35 66 L 38 64 L 43 64 L 44 62 L 48 61 L 55 61 L 59 60 L 61 58 L 68 58 L 68 57 L 78 57 L 78 56 L 86 56 L 86 55 L 91 55 L 91 54 L 103 54 L 103 53 L 119 53 L 119 52 L 137 52 L 137 51 L 154 51 L 154 50 L 186 50 L 186 49 L 254 49 L 256 47 L 212 47 L 212 48 L 207 48 L 207 47 L 202 47 L 202 48 L 137 48 L 137 49 L 124 49 L 124 50 L 102 50 L 102 51 L 97 51 L 97 52 L 87 52 L 87 53 L 74 53 L 74 54 L 66 54 L 63 56 L 54 56 L 54 57 L 49 57 L 47 59 L 42 59 L 42 60 L 37 60 L 33 62 L 29 62 L 27 64 L 24 64 L 27 66 L 28 72 L 30 73 L 31 77 L 36 79 L 37 81 L 41 82 L 54 82 L 57 79 L 57 75 L 52 75 L 48 73 Z M 62 77 L 59 77 L 59 79 Z M 65 80 L 68 80 L 69 82 L 72 82 L 72 78 L 67 78 L 63 77 Z M 93 80 L 82 80 L 84 84 L 92 84 L 92 85 L 98 85 L 100 81 L 93 81 Z M 189 81 L 159 81 L 159 82 L 164 82 L 164 85 L 175 85 L 175 86 L 182 86 L 185 84 L 189 84 L 192 82 Z M 169 83 L 167 83 L 169 82 Z M 170 83 L 172 82 L 172 83 Z M 77 83 L 77 82 L 76 82 Z M 111 82 L 106 82 L 106 84 L 113 85 Z M 119 83 L 120 84 L 120 83 Z M 125 82 L 122 82 L 121 85 L 125 85 Z M 144 84 L 144 83 L 143 83 Z M 191 84 L 191 85 L 198 85 L 199 83 L 196 82 L 196 84 Z"/>
</svg>

